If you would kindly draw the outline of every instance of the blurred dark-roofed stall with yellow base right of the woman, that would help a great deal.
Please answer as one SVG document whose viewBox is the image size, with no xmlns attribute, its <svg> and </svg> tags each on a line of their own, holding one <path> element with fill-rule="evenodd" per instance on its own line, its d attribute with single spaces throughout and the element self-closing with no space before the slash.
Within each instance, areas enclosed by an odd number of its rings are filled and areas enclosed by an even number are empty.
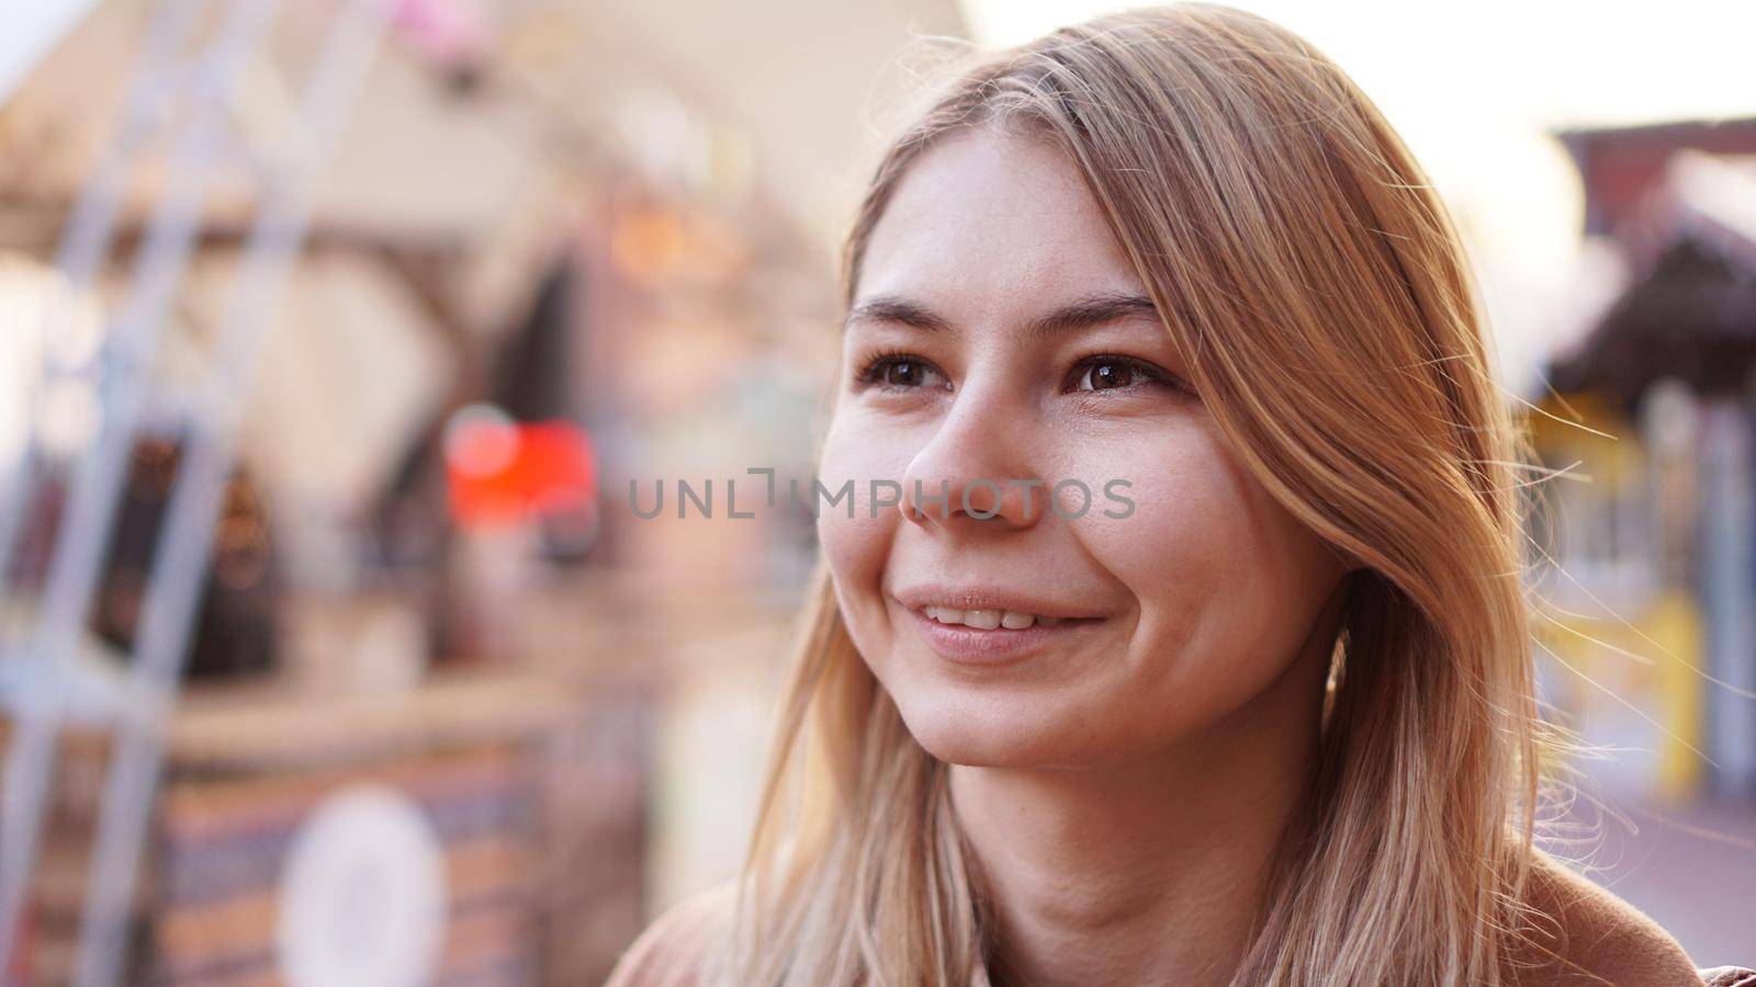
<svg viewBox="0 0 1756 987">
<path fill-rule="evenodd" d="M 1545 685 L 1593 771 L 1756 796 L 1756 119 L 1559 133 L 1600 258 L 1533 437 Z M 1559 667 L 1558 667 L 1559 666 Z"/>
</svg>

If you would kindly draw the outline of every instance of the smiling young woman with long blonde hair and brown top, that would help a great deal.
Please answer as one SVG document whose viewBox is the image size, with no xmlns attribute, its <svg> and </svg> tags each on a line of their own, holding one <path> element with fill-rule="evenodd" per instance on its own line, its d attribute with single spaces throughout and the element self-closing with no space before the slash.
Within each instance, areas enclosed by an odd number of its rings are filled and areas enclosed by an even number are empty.
<svg viewBox="0 0 1756 987">
<path fill-rule="evenodd" d="M 1001 53 L 845 286 L 748 866 L 611 983 L 1702 983 L 1531 845 L 1522 437 L 1335 63 L 1212 4 Z"/>
</svg>

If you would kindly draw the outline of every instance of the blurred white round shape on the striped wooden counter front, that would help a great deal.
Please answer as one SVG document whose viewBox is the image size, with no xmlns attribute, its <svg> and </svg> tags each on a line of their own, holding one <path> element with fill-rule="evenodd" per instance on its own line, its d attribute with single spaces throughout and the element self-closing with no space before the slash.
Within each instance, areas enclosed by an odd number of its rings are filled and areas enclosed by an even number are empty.
<svg viewBox="0 0 1756 987">
<path fill-rule="evenodd" d="M 290 987 L 416 987 L 444 933 L 444 850 L 386 785 L 327 796 L 281 871 L 279 969 Z"/>
</svg>

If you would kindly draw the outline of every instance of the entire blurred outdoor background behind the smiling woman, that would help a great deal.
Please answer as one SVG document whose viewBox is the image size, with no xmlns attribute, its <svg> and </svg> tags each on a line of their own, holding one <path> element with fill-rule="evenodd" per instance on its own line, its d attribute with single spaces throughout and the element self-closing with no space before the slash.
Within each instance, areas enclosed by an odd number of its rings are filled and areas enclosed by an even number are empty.
<svg viewBox="0 0 1756 987">
<path fill-rule="evenodd" d="M 1428 165 L 1559 471 L 1556 847 L 1752 962 L 1756 9 L 1238 5 Z M 878 139 L 1110 7 L 12 7 L 4 976 L 601 982 L 745 847 L 815 557 L 748 471 L 810 476 Z"/>
</svg>

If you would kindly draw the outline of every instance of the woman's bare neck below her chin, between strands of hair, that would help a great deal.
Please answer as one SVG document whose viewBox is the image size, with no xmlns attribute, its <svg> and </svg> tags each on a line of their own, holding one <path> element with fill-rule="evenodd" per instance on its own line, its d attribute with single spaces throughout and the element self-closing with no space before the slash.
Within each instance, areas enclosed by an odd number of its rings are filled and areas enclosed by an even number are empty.
<svg viewBox="0 0 1756 987">
<path fill-rule="evenodd" d="M 1175 750 L 950 767 L 994 903 L 996 983 L 1226 983 L 1315 757 L 1328 652 Z"/>
</svg>

